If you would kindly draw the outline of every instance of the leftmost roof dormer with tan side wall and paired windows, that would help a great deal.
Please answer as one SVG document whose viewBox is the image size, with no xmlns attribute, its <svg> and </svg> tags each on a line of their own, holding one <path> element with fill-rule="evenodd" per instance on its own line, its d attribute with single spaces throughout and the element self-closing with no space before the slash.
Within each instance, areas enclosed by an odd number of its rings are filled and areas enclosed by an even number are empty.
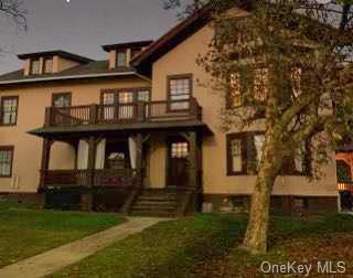
<svg viewBox="0 0 353 278">
<path fill-rule="evenodd" d="M 47 51 L 18 55 L 24 61 L 24 76 L 49 75 L 87 64 L 93 60 L 65 51 Z"/>
</svg>

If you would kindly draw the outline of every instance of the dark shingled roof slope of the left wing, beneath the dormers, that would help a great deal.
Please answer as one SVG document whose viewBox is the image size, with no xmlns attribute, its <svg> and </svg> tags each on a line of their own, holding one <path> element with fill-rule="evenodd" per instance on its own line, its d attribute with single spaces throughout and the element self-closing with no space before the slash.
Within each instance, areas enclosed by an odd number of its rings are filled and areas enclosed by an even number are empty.
<svg viewBox="0 0 353 278">
<path fill-rule="evenodd" d="M 47 78 L 49 81 L 53 77 L 71 77 L 71 76 L 77 76 L 81 75 L 99 75 L 99 74 L 111 74 L 111 73 L 129 73 L 133 72 L 136 73 L 135 68 L 132 67 L 117 67 L 114 70 L 110 70 L 108 66 L 108 61 L 97 61 L 97 62 L 90 62 L 88 64 L 77 65 L 71 68 L 67 68 L 65 71 L 62 71 L 60 73 L 52 73 L 52 74 L 40 74 L 40 75 L 28 75 L 24 76 L 23 70 L 8 73 L 0 76 L 0 83 L 6 82 L 15 82 L 15 81 L 31 81 L 36 78 Z"/>
</svg>

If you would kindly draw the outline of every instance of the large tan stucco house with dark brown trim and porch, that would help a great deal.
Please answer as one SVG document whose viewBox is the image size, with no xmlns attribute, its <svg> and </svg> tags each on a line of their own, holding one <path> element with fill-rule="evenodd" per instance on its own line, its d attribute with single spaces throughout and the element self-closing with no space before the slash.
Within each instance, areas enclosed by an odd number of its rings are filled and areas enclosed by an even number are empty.
<svg viewBox="0 0 353 278">
<path fill-rule="evenodd" d="M 105 45 L 107 61 L 19 55 L 23 68 L 0 76 L 0 192 L 88 211 L 246 211 L 256 180 L 246 163 L 264 133 L 220 129 L 226 99 L 196 63 L 208 22 L 200 12 L 154 42 Z M 336 211 L 332 158 L 311 183 L 296 161 L 276 181 L 272 210 Z"/>
</svg>

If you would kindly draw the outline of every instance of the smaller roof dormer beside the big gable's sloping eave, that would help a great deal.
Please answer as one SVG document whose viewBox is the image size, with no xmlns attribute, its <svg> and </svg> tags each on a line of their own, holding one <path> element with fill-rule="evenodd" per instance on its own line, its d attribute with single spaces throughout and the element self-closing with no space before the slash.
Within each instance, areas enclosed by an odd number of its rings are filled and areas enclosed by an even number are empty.
<svg viewBox="0 0 353 278">
<path fill-rule="evenodd" d="M 104 45 L 104 51 L 109 53 L 109 68 L 130 66 L 130 61 L 148 47 L 153 41 L 139 41 Z"/>
</svg>

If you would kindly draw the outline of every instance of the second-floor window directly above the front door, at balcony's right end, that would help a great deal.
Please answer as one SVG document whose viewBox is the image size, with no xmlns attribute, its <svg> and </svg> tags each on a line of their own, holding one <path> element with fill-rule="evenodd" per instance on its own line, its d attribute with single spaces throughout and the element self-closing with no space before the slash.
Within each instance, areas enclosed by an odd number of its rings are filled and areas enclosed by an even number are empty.
<svg viewBox="0 0 353 278">
<path fill-rule="evenodd" d="M 190 108 L 192 77 L 190 75 L 169 77 L 169 101 L 171 110 Z"/>
</svg>

